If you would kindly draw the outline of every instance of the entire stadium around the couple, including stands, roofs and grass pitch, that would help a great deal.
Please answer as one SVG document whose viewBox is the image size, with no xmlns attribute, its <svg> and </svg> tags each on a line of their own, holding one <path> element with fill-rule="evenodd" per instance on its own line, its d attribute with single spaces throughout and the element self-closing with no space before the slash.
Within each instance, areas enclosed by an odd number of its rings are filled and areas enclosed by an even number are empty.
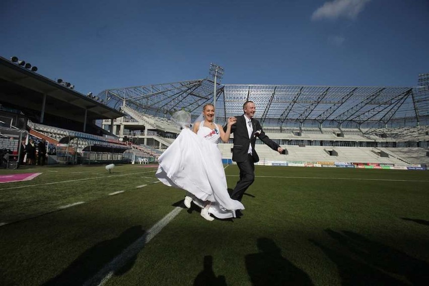
<svg viewBox="0 0 429 286">
<path fill-rule="evenodd" d="M 3 284 L 427 281 L 429 74 L 414 87 L 222 77 L 211 64 L 206 78 L 84 95 L 0 57 Z M 286 153 L 257 141 L 244 218 L 208 226 L 197 208 L 181 211 L 183 192 L 157 184 L 158 158 L 181 132 L 170 117 L 185 110 L 193 122 L 214 101 L 225 124 L 247 100 Z M 46 166 L 28 164 L 30 139 L 46 140 Z M 228 186 L 232 146 L 219 144 Z"/>
</svg>

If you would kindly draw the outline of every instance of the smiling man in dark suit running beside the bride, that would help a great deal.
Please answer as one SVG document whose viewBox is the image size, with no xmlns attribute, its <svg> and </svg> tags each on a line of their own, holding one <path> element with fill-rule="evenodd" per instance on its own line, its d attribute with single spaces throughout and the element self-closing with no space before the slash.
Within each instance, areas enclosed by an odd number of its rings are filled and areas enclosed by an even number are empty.
<svg viewBox="0 0 429 286">
<path fill-rule="evenodd" d="M 243 105 L 244 114 L 237 116 L 237 123 L 231 126 L 234 133 L 233 161 L 237 162 L 240 169 L 240 180 L 237 182 L 231 198 L 241 201 L 244 192 L 255 180 L 255 165 L 259 161 L 255 151 L 256 137 L 269 146 L 272 150 L 281 154 L 283 149 L 272 141 L 262 130 L 258 120 L 253 119 L 256 108 L 253 101 L 246 101 Z M 224 130 L 226 130 L 224 127 Z"/>
</svg>

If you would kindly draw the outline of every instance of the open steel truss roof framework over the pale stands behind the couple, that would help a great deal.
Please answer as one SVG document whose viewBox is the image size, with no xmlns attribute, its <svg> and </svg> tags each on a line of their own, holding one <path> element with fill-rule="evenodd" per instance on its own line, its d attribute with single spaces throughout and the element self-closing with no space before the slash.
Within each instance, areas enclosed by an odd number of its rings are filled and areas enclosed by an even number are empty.
<svg viewBox="0 0 429 286">
<path fill-rule="evenodd" d="M 193 118 L 213 101 L 213 81 L 105 90 L 109 105 L 126 104 L 140 112 L 169 117 L 185 109 Z M 243 113 L 246 100 L 255 102 L 256 117 L 265 126 L 382 127 L 429 125 L 429 93 L 413 87 L 338 87 L 296 85 L 217 85 L 217 121 Z"/>
</svg>

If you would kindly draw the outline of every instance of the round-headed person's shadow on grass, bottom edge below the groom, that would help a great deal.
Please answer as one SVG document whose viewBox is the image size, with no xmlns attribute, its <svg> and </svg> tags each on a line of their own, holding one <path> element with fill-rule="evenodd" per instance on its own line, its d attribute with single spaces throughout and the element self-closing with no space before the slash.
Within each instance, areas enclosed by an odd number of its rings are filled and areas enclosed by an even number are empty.
<svg viewBox="0 0 429 286">
<path fill-rule="evenodd" d="M 256 245 L 259 252 L 245 256 L 253 285 L 313 285 L 306 272 L 281 255 L 274 241 L 262 237 Z"/>
</svg>

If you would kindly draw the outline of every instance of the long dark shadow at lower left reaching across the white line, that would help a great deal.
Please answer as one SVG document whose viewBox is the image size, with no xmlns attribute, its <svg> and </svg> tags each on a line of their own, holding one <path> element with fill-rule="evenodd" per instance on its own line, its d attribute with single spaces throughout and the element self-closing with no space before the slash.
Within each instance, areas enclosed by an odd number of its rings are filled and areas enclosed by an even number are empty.
<svg viewBox="0 0 429 286">
<path fill-rule="evenodd" d="M 42 285 L 83 285 L 87 280 L 93 279 L 105 265 L 144 235 L 145 231 L 141 229 L 141 226 L 134 226 L 125 230 L 117 238 L 102 241 L 79 255 L 60 274 Z M 131 269 L 137 252 L 135 251 L 126 257 L 127 259 L 122 261 L 123 264 L 118 262 L 114 274 L 122 275 Z"/>
</svg>

